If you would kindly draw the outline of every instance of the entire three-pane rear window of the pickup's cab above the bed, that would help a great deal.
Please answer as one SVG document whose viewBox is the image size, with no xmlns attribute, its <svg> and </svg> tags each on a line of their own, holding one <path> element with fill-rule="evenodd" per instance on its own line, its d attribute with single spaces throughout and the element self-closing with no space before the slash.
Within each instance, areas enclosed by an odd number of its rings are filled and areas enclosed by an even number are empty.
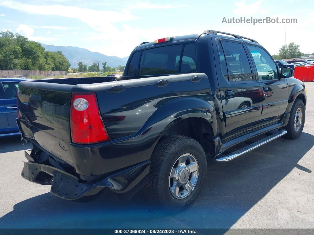
<svg viewBox="0 0 314 235">
<path fill-rule="evenodd" d="M 183 50 L 182 50 L 183 49 Z M 128 76 L 162 75 L 196 72 L 194 43 L 156 47 L 133 54 Z M 138 71 L 139 63 L 139 71 Z"/>
</svg>

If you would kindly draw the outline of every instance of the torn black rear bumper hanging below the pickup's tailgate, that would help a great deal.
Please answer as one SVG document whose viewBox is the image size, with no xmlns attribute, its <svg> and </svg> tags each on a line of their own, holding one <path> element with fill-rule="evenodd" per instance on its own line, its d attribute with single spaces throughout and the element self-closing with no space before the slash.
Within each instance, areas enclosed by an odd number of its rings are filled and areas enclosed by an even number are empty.
<svg viewBox="0 0 314 235">
<path fill-rule="evenodd" d="M 66 200 L 95 195 L 105 187 L 123 195 L 120 197 L 129 199 L 145 184 L 149 167 L 150 161 L 148 160 L 111 174 L 97 182 L 80 183 L 76 176 L 52 166 L 24 162 L 22 177 L 37 184 L 51 184 L 51 194 Z"/>
</svg>

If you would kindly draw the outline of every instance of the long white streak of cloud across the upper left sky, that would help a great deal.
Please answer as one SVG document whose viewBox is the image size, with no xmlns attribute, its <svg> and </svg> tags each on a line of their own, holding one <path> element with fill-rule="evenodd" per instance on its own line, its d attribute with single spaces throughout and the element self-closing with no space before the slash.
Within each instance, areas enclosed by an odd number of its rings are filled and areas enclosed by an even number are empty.
<svg viewBox="0 0 314 235">
<path fill-rule="evenodd" d="M 93 10 L 88 8 L 80 8 L 75 6 L 63 5 L 31 5 L 18 2 L 2 2 L 2 6 L 11 9 L 23 11 L 29 14 L 41 15 L 56 15 L 79 19 L 90 27 L 101 32 L 111 31 L 116 33 L 119 30 L 113 26 L 112 23 L 138 19 L 139 17 L 133 16 L 129 11 L 107 11 L 107 10 Z"/>
</svg>

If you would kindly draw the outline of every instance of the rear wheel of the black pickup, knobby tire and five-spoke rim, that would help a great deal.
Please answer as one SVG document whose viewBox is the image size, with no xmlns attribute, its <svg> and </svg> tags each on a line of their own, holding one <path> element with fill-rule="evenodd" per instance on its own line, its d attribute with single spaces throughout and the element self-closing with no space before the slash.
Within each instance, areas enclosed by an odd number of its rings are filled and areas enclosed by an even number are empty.
<svg viewBox="0 0 314 235">
<path fill-rule="evenodd" d="M 197 163 L 197 171 L 194 163 Z M 206 177 L 206 168 L 205 152 L 196 140 L 179 135 L 166 137 L 157 143 L 152 153 L 144 193 L 158 208 L 185 209 L 200 193 Z M 176 173 L 172 174 L 174 172 Z M 171 175 L 176 175 L 178 179 L 171 178 Z M 188 182 L 184 183 L 186 180 L 192 182 L 194 187 Z"/>
</svg>

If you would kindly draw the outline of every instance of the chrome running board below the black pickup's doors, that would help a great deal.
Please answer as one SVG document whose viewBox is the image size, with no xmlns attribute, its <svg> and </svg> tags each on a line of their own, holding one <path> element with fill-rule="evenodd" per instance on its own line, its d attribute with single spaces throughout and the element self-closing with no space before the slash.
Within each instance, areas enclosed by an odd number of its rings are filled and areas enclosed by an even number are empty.
<svg viewBox="0 0 314 235">
<path fill-rule="evenodd" d="M 245 147 L 243 147 L 243 148 L 240 148 L 240 149 L 238 149 L 238 150 L 236 150 L 236 151 L 234 151 L 234 152 L 231 152 L 231 153 L 229 153 L 229 154 L 227 154 L 227 155 L 223 155 L 223 156 L 218 156 L 218 158 L 215 158 L 215 161 L 217 161 L 217 162 L 227 162 L 227 161 L 231 161 L 231 160 L 233 160 L 233 159 L 235 159 L 235 158 L 237 158 L 237 157 L 239 157 L 239 156 L 241 156 L 242 154 L 244 154 L 244 153 L 247 153 L 247 152 L 250 152 L 250 151 L 252 151 L 252 150 L 254 150 L 254 149 L 256 149 L 256 148 L 258 148 L 258 147 L 260 147 L 260 146 L 262 146 L 262 145 L 264 145 L 264 144 L 266 144 L 266 143 L 268 143 L 268 142 L 271 142 L 271 141 L 273 141 L 274 139 L 277 139 L 277 138 L 279 138 L 280 136 L 283 136 L 283 135 L 285 135 L 285 134 L 287 134 L 287 131 L 286 130 L 284 130 L 284 129 L 279 129 L 278 131 L 276 131 L 273 135 L 271 135 L 271 136 L 266 136 L 265 138 L 263 138 L 263 139 L 261 139 L 261 140 L 259 140 L 259 141 L 257 141 L 257 142 L 254 142 L 254 143 L 252 143 L 252 144 L 249 144 L 249 145 L 247 145 L 247 146 L 245 146 Z"/>
</svg>

